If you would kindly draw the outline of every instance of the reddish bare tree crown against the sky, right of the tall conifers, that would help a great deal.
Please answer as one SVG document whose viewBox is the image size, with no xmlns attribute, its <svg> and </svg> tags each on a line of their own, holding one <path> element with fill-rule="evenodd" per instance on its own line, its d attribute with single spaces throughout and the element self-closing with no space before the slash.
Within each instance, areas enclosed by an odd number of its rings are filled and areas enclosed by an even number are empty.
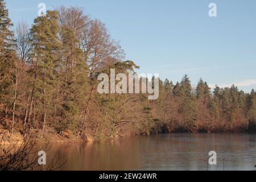
<svg viewBox="0 0 256 182">
<path fill-rule="evenodd" d="M 96 72 L 121 61 L 125 57 L 123 49 L 113 40 L 104 23 L 90 20 L 89 27 L 82 32 L 82 50 L 90 69 L 90 78 Z"/>
</svg>

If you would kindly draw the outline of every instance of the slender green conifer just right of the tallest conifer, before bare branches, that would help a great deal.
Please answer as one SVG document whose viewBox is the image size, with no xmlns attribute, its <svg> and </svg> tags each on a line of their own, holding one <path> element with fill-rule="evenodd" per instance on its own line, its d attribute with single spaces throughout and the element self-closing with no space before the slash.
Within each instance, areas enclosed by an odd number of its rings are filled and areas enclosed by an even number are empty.
<svg viewBox="0 0 256 182">
<path fill-rule="evenodd" d="M 84 63 L 82 50 L 79 48 L 75 32 L 68 27 L 62 27 L 61 41 L 63 57 L 62 71 L 58 76 L 58 92 L 55 105 L 55 112 L 58 108 L 60 118 L 60 134 L 64 129 L 75 129 L 79 123 L 76 115 L 81 112 L 81 105 L 86 100 L 86 87 L 88 68 Z M 61 98 L 60 98 L 61 97 Z M 61 101 L 61 102 L 60 102 Z M 58 106 L 59 105 L 59 106 Z M 54 113 L 56 116 L 56 113 Z"/>
</svg>

